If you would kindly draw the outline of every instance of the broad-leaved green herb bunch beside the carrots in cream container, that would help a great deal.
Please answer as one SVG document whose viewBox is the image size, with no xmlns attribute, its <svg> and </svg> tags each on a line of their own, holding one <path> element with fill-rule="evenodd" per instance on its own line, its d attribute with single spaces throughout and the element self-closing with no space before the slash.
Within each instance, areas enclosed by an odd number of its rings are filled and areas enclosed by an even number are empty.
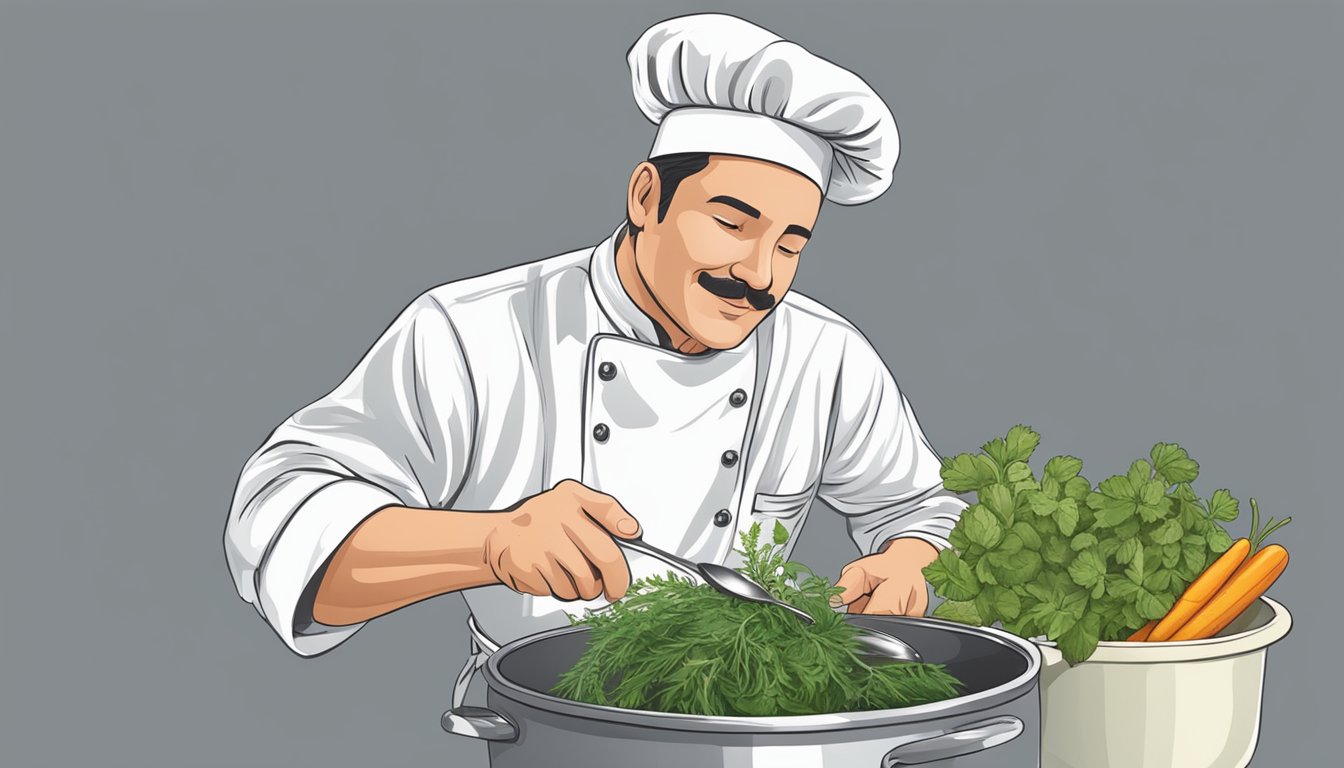
<svg viewBox="0 0 1344 768">
<path fill-rule="evenodd" d="M 943 487 L 977 500 L 925 577 L 946 600 L 934 616 L 1043 635 L 1074 664 L 1165 616 L 1231 546 L 1220 522 L 1238 502 L 1227 490 L 1200 499 L 1199 464 L 1180 445 L 1159 443 L 1094 488 L 1073 456 L 1046 461 L 1038 480 L 1027 461 L 1039 444 L 1017 425 L 943 461 Z"/>
</svg>

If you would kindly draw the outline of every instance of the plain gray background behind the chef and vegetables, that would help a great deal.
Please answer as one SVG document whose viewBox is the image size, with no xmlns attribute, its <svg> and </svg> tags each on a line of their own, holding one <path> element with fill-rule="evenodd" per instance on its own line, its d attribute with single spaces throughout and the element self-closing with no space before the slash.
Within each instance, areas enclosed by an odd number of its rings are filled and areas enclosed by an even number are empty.
<svg viewBox="0 0 1344 768">
<path fill-rule="evenodd" d="M 892 190 L 823 211 L 796 289 L 939 452 L 1025 422 L 1099 479 L 1173 440 L 1294 516 L 1255 763 L 1331 761 L 1339 5 L 723 7 L 892 105 Z M 460 600 L 302 660 L 234 592 L 228 498 L 417 293 L 610 231 L 652 139 L 625 51 L 687 9 L 3 5 L 0 763 L 472 763 Z M 814 510 L 800 558 L 853 554 Z"/>
</svg>

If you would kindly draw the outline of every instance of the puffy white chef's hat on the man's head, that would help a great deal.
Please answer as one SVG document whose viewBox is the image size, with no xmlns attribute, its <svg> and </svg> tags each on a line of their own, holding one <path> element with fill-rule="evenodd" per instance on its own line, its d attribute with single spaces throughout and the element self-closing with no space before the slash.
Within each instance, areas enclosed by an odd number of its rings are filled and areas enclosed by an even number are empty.
<svg viewBox="0 0 1344 768">
<path fill-rule="evenodd" d="M 630 81 L 659 125 L 649 157 L 739 155 L 802 174 L 835 203 L 891 186 L 896 121 L 859 75 L 755 24 L 696 13 L 649 27 L 630 47 Z"/>
</svg>

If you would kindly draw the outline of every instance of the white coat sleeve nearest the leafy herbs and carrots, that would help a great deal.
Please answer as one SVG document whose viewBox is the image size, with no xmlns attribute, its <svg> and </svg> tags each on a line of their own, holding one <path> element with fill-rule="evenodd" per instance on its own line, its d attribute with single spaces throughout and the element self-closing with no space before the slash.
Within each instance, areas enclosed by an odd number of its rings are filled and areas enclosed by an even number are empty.
<svg viewBox="0 0 1344 768">
<path fill-rule="evenodd" d="M 942 459 L 886 363 L 852 328 L 836 387 L 817 495 L 847 518 L 849 537 L 864 554 L 896 537 L 950 546 L 948 535 L 966 502 L 942 487 Z"/>
</svg>

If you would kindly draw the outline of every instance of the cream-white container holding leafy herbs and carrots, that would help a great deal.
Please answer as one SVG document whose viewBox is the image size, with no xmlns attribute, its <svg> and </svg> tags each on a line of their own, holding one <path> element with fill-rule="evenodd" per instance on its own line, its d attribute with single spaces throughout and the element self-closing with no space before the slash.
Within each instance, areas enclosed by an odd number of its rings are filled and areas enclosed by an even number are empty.
<svg viewBox="0 0 1344 768">
<path fill-rule="evenodd" d="M 1293 620 L 1261 597 L 1207 640 L 1101 643 L 1070 667 L 1038 640 L 1043 768 L 1241 768 L 1259 737 L 1269 646 Z"/>
</svg>

